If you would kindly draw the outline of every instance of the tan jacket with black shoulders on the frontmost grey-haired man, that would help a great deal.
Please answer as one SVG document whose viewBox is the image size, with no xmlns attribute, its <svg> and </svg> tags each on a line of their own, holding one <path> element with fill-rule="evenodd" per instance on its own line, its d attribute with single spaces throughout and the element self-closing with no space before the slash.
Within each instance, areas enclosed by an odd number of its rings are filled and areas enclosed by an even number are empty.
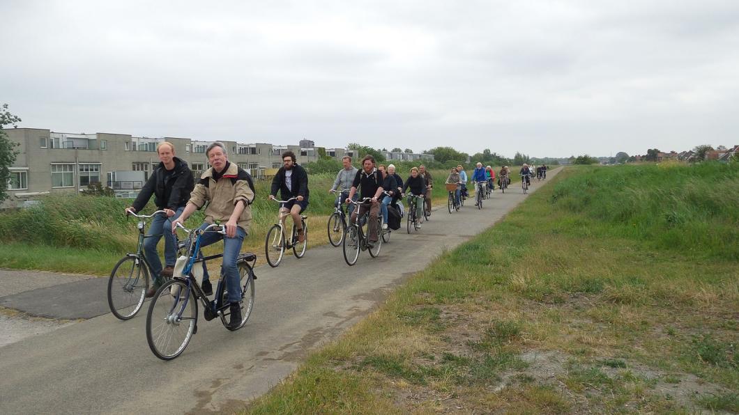
<svg viewBox="0 0 739 415">
<path fill-rule="evenodd" d="M 244 211 L 236 224 L 248 234 L 251 224 L 250 205 L 254 202 L 251 176 L 232 162 L 228 162 L 218 180 L 214 179 L 213 173 L 212 167 L 203 172 L 188 203 L 200 209 L 208 202 L 208 207 L 205 207 L 205 222 L 209 224 L 214 221 L 227 222 L 234 213 L 236 203 L 245 203 Z"/>
</svg>

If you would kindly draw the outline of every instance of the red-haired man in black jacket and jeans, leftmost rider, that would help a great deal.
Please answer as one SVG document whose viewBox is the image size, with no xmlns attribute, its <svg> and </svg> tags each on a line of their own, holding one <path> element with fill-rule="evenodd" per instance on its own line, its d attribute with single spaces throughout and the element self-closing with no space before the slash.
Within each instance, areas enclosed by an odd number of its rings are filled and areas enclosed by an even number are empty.
<svg viewBox="0 0 739 415">
<path fill-rule="evenodd" d="M 146 260 L 151 265 L 151 278 L 153 284 L 148 291 L 146 297 L 154 297 L 154 293 L 163 284 L 163 278 L 171 278 L 174 271 L 174 263 L 177 261 L 177 239 L 171 232 L 165 232 L 171 227 L 171 221 L 177 219 L 183 213 L 187 201 L 190 199 L 190 193 L 195 186 L 190 168 L 187 162 L 178 157 L 174 157 L 174 145 L 168 141 L 163 141 L 157 145 L 157 156 L 160 163 L 154 172 L 151 173 L 146 185 L 139 192 L 132 206 L 127 210 L 138 212 L 143 209 L 151 194 L 154 194 L 154 204 L 158 210 L 164 210 L 166 216 L 157 215 L 151 219 L 149 234 L 154 235 L 143 241 L 143 252 Z M 164 236 L 164 263 L 166 267 L 162 269 L 162 262 L 157 253 L 157 244 Z"/>
</svg>

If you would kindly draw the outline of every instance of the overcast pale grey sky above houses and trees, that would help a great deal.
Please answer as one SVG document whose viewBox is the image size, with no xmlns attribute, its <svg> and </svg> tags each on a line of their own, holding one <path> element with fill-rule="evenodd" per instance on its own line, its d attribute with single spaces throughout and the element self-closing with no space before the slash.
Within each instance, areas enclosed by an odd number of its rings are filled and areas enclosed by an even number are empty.
<svg viewBox="0 0 739 415">
<path fill-rule="evenodd" d="M 19 126 L 513 157 L 739 144 L 739 1 L 0 2 Z"/>
</svg>

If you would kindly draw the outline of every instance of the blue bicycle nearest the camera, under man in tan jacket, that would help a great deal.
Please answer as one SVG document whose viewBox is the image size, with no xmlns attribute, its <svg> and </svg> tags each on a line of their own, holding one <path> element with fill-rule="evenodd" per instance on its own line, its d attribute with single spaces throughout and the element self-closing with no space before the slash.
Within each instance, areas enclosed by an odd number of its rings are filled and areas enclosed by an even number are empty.
<svg viewBox="0 0 739 415">
<path fill-rule="evenodd" d="M 203 318 L 206 321 L 219 317 L 223 326 L 234 332 L 241 329 L 249 319 L 254 306 L 254 264 L 256 255 L 240 253 L 236 258 L 236 267 L 239 269 L 239 287 L 241 289 L 242 317 L 239 326 L 228 326 L 226 317 L 231 315 L 231 303 L 228 301 L 228 292 L 224 276 L 218 278 L 218 286 L 214 300 L 202 291 L 200 282 L 194 272 L 200 267 L 195 264 L 215 258 L 221 258 L 222 253 L 202 257 L 200 254 L 200 238 L 206 232 L 218 232 L 225 235 L 225 230 L 219 224 L 211 224 L 202 230 L 188 230 L 177 224 L 188 233 L 188 251 L 184 258 L 177 260 L 174 277 L 157 290 L 151 299 L 149 312 L 146 315 L 146 342 L 156 357 L 162 360 L 172 360 L 185 351 L 194 334 L 197 333 L 197 303 L 203 307 Z M 220 229 L 219 229 L 220 228 Z M 200 256 L 200 258 L 198 258 Z"/>
</svg>

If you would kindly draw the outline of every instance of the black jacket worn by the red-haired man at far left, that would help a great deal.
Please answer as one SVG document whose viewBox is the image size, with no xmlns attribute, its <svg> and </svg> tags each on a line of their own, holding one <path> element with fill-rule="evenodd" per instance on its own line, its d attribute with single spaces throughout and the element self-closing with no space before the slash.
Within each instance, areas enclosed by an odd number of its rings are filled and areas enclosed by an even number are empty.
<svg viewBox="0 0 739 415">
<path fill-rule="evenodd" d="M 154 193 L 154 204 L 158 209 L 177 210 L 187 205 L 190 193 L 195 186 L 195 180 L 185 160 L 177 157 L 173 157 L 172 160 L 174 161 L 174 172 L 168 177 L 167 182 L 164 182 L 166 168 L 163 162 L 159 163 L 149 176 L 149 180 L 146 180 L 146 185 L 143 186 L 132 205 L 137 212 L 149 203 L 152 193 Z"/>
</svg>

